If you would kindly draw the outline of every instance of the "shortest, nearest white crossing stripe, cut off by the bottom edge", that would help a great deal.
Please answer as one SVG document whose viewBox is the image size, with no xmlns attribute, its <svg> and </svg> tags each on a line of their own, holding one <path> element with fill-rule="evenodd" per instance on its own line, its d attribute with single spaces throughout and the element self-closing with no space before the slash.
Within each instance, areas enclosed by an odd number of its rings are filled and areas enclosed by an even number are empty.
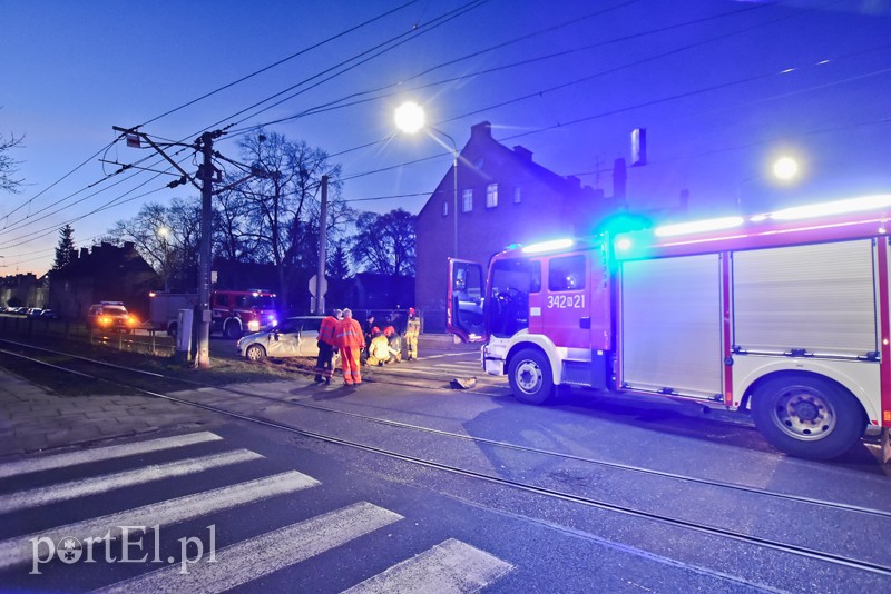
<svg viewBox="0 0 891 594">
<path fill-rule="evenodd" d="M 344 594 L 478 592 L 512 568 L 510 563 L 484 551 L 449 538 L 356 584 Z"/>
</svg>

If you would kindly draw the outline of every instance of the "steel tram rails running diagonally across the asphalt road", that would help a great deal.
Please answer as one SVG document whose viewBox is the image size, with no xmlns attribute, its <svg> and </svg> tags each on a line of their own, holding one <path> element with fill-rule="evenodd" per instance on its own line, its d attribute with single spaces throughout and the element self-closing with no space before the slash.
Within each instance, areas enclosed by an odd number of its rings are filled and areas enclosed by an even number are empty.
<svg viewBox="0 0 891 594">
<path fill-rule="evenodd" d="M 212 386 L 212 385 L 207 385 L 207 384 L 204 384 L 202 382 L 194 380 L 194 379 L 177 378 L 177 377 L 173 377 L 173 376 L 165 376 L 163 374 L 158 374 L 158 373 L 155 373 L 155 372 L 146 372 L 146 370 L 143 370 L 143 369 L 134 369 L 134 368 L 123 367 L 123 366 L 118 366 L 118 365 L 115 365 L 115 364 L 109 364 L 107 362 L 91 359 L 89 357 L 82 357 L 82 356 L 74 355 L 74 354 L 69 354 L 69 353 L 62 353 L 62 352 L 52 350 L 52 349 L 48 349 L 48 348 L 43 348 L 43 347 L 37 347 L 37 346 L 33 346 L 33 345 L 27 345 L 27 344 L 23 344 L 23 343 L 14 343 L 14 341 L 11 341 L 11 340 L 6 340 L 6 339 L 0 339 L 0 343 L 4 343 L 4 344 L 8 344 L 8 345 L 13 345 L 13 346 L 17 346 L 17 347 L 23 348 L 23 349 L 36 349 L 36 350 L 42 352 L 42 353 L 45 353 L 47 355 L 52 355 L 56 358 L 66 358 L 67 357 L 70 360 L 80 362 L 80 364 L 92 365 L 92 366 L 98 366 L 98 367 L 116 368 L 119 372 L 138 374 L 139 376 L 150 377 L 150 378 L 153 378 L 155 380 L 164 378 L 164 379 L 166 379 L 168 382 L 182 382 L 184 385 L 189 385 L 189 386 L 196 387 L 196 388 L 212 388 L 212 389 L 214 389 L 214 390 L 216 390 L 218 393 L 231 394 L 231 395 L 237 396 L 239 398 L 251 397 L 251 398 L 256 398 L 258 400 L 272 402 L 272 403 L 280 404 L 280 405 L 290 405 L 290 406 L 303 407 L 303 408 L 307 408 L 307 409 L 314 409 L 314 410 L 317 410 L 317 412 L 326 414 L 326 415 L 341 415 L 341 416 L 350 417 L 352 419 L 356 419 L 356 420 L 360 420 L 360 422 L 363 422 L 363 423 L 374 423 L 374 424 L 380 424 L 380 425 L 388 426 L 388 427 L 393 427 L 393 428 L 396 428 L 396 429 L 423 432 L 423 433 L 430 434 L 430 435 L 435 435 L 435 436 L 446 437 L 446 438 L 450 438 L 450 439 L 460 439 L 460 440 L 463 440 L 463 442 L 474 443 L 477 445 L 486 445 L 486 446 L 490 446 L 490 447 L 505 448 L 505 449 L 509 449 L 509 451 L 513 451 L 513 452 L 519 452 L 519 453 L 522 453 L 522 454 L 530 454 L 530 455 L 539 455 L 539 456 L 548 456 L 548 457 L 554 457 L 554 458 L 567 459 L 567 461 L 572 461 L 572 462 L 577 462 L 577 463 L 581 463 L 581 464 L 599 466 L 599 467 L 603 467 L 603 468 L 606 468 L 606 469 L 610 469 L 610 471 L 629 472 L 629 473 L 640 474 L 640 475 L 655 477 L 655 478 L 678 481 L 678 482 L 684 482 L 684 483 L 688 483 L 688 484 L 693 484 L 693 485 L 703 485 L 703 486 L 715 487 L 715 488 L 721 488 L 721 489 L 728 489 L 728 491 L 732 491 L 732 492 L 746 493 L 746 494 L 750 494 L 750 495 L 765 496 L 765 497 L 776 498 L 776 499 L 791 502 L 791 503 L 794 503 L 794 504 L 800 504 L 800 505 L 805 505 L 805 506 L 817 506 L 817 507 L 823 508 L 823 509 L 832 509 L 832 511 L 839 512 L 839 513 L 856 514 L 859 516 L 859 519 L 856 522 L 862 522 L 864 519 L 865 521 L 872 521 L 872 522 L 891 519 L 891 512 L 883 511 L 883 509 L 874 509 L 874 508 L 868 508 L 868 507 L 858 506 L 858 505 L 843 504 L 843 503 L 831 502 L 831 501 L 825 501 L 825 499 L 819 499 L 819 498 L 813 498 L 813 497 L 806 497 L 806 496 L 801 496 L 801 495 L 779 493 L 779 492 L 762 489 L 762 488 L 757 488 L 757 487 L 752 487 L 752 486 L 748 486 L 748 485 L 742 485 L 742 484 L 735 484 L 735 483 L 726 483 L 726 482 L 721 482 L 721 481 L 711 481 L 711 479 L 705 479 L 705 478 L 685 476 L 685 475 L 679 475 L 679 474 L 675 474 L 675 473 L 668 473 L 668 472 L 664 472 L 664 471 L 657 471 L 657 469 L 652 469 L 652 468 L 643 468 L 643 467 L 639 467 L 639 466 L 633 466 L 633 465 L 626 465 L 626 464 L 620 464 L 620 463 L 615 463 L 615 462 L 609 462 L 609 461 L 588 458 L 588 457 L 585 457 L 585 456 L 577 456 L 577 455 L 572 455 L 572 454 L 566 454 L 566 453 L 560 453 L 560 452 L 554 452 L 554 451 L 535 448 L 535 447 L 529 447 L 529 446 L 523 446 L 523 445 L 517 445 L 517 444 L 511 444 L 511 443 L 502 442 L 502 440 L 488 439 L 488 438 L 484 438 L 484 437 L 474 437 L 474 436 L 458 434 L 458 433 L 453 433 L 453 432 L 447 432 L 447 430 L 442 430 L 442 429 L 437 429 L 437 428 L 432 428 L 432 427 L 424 427 L 424 426 L 413 425 L 413 424 L 409 424 L 409 423 L 402 423 L 402 422 L 396 422 L 396 420 L 391 420 L 391 419 L 378 418 L 378 417 L 373 417 L 373 416 L 369 416 L 369 415 L 362 415 L 362 414 L 353 413 L 353 412 L 349 412 L 349 410 L 341 410 L 341 409 L 331 408 L 331 407 L 326 407 L 326 406 L 320 406 L 320 405 L 310 404 L 310 403 L 305 403 L 305 402 L 301 402 L 301 400 L 295 400 L 293 398 L 277 398 L 277 397 L 255 394 L 255 393 L 251 393 L 251 392 L 243 390 L 243 389 L 237 389 L 237 388 Z M 396 452 L 396 451 L 389 449 L 389 448 L 385 448 L 385 447 L 379 447 L 379 446 L 375 446 L 375 445 L 360 443 L 358 440 L 339 437 L 336 435 L 327 435 L 327 434 L 324 434 L 324 433 L 320 433 L 317 430 L 310 430 L 310 429 L 306 429 L 306 428 L 301 428 L 301 427 L 297 427 L 297 426 L 294 426 L 294 425 L 290 425 L 290 424 L 284 423 L 284 422 L 274 420 L 274 419 L 270 419 L 270 418 L 264 418 L 264 417 L 258 416 L 256 414 L 239 413 L 237 410 L 233 410 L 233 409 L 226 408 L 225 406 L 208 405 L 208 404 L 205 404 L 205 403 L 194 402 L 194 400 L 190 400 L 188 398 L 184 398 L 184 397 L 179 397 L 179 396 L 170 396 L 168 394 L 161 394 L 159 392 L 155 392 L 155 390 L 151 390 L 151 389 L 146 389 L 146 388 L 139 387 L 139 386 L 128 385 L 128 384 L 125 384 L 125 383 L 121 383 L 121 382 L 109 380 L 107 378 L 102 378 L 100 375 L 87 374 L 87 373 L 85 373 L 85 370 L 82 368 L 79 368 L 79 369 L 71 368 L 71 367 L 66 368 L 65 365 L 62 365 L 61 362 L 57 360 L 56 358 L 53 358 L 53 363 L 49 363 L 49 362 L 41 362 L 37 357 L 29 357 L 29 356 L 26 356 L 26 355 L 23 355 L 21 353 L 16 353 L 16 352 L 12 352 L 12 350 L 9 350 L 9 349 L 2 349 L 2 353 L 8 354 L 8 355 L 13 355 L 13 356 L 26 357 L 29 360 L 36 362 L 38 364 L 43 363 L 46 365 L 50 365 L 51 367 L 53 367 L 56 369 L 68 370 L 68 372 L 71 372 L 74 374 L 77 374 L 77 375 L 79 375 L 81 377 L 86 375 L 86 376 L 89 376 L 89 377 L 94 377 L 94 378 L 96 378 L 97 380 L 100 380 L 100 382 L 114 383 L 114 384 L 116 384 L 116 385 L 118 385 L 120 387 L 126 387 L 128 389 L 137 390 L 137 392 L 139 392 L 141 394 L 145 394 L 145 395 L 148 395 L 148 396 L 151 396 L 151 397 L 163 398 L 163 399 L 166 399 L 166 400 L 169 400 L 169 402 L 174 402 L 174 403 L 177 403 L 177 404 L 202 408 L 202 409 L 205 409 L 205 410 L 209 410 L 209 412 L 214 412 L 214 413 L 217 413 L 217 414 L 221 414 L 221 415 L 225 415 L 225 416 L 231 417 L 231 418 L 237 418 L 237 419 L 241 419 L 241 420 L 244 420 L 244 422 L 263 425 L 263 426 L 266 426 L 266 427 L 270 427 L 270 428 L 287 432 L 287 433 L 300 435 L 300 436 L 307 437 L 307 438 L 311 438 L 311 439 L 317 439 L 317 440 L 321 440 L 321 442 L 324 442 L 324 443 L 329 443 L 329 444 L 336 444 L 336 445 L 340 445 L 340 446 L 346 446 L 346 447 L 351 447 L 351 448 L 356 448 L 356 449 L 360 449 L 360 451 L 363 451 L 363 452 L 366 452 L 366 453 L 385 456 L 388 458 L 396 459 L 396 461 L 400 461 L 400 462 L 403 462 L 403 463 L 409 463 L 409 464 L 422 466 L 422 467 L 434 469 L 434 471 L 446 472 L 446 473 L 449 473 L 449 474 L 452 474 L 452 475 L 462 476 L 462 477 L 467 477 L 467 478 L 470 478 L 470 479 L 482 481 L 482 482 L 486 482 L 486 483 L 489 483 L 489 484 L 493 484 L 493 485 L 498 485 L 498 486 L 502 486 L 502 487 L 509 487 L 509 488 L 517 489 L 517 491 L 520 491 L 520 492 L 523 492 L 523 493 L 527 493 L 527 494 L 531 494 L 531 495 L 536 495 L 536 496 L 548 497 L 548 498 L 551 498 L 551 499 L 561 501 L 561 502 L 566 502 L 566 503 L 570 503 L 570 504 L 575 504 L 575 505 L 581 505 L 581 506 L 585 506 L 585 507 L 595 507 L 595 508 L 598 508 L 598 509 L 613 512 L 613 513 L 621 514 L 621 515 L 625 515 L 625 516 L 631 516 L 631 517 L 639 518 L 639 519 L 645 519 L 645 521 L 649 521 L 649 522 L 656 522 L 658 524 L 666 525 L 666 526 L 672 526 L 672 527 L 676 527 L 676 528 L 692 531 L 692 532 L 695 532 L 695 533 L 698 533 L 698 534 L 705 534 L 705 535 L 709 535 L 709 536 L 727 538 L 727 539 L 732 539 L 732 541 L 737 542 L 737 543 L 744 543 L 744 544 L 747 544 L 747 545 L 758 546 L 758 547 L 763 547 L 763 548 L 767 548 L 767 550 L 772 550 L 772 551 L 777 551 L 777 552 L 783 552 L 783 553 L 787 553 L 787 554 L 792 554 L 792 555 L 796 555 L 796 556 L 801 556 L 801 557 L 806 557 L 806 558 L 810 558 L 810 560 L 813 560 L 813 561 L 819 561 L 819 562 L 823 562 L 823 563 L 830 563 L 830 564 L 834 564 L 834 565 L 845 566 L 845 567 L 859 570 L 859 571 L 865 571 L 865 572 L 870 572 L 872 574 L 877 574 L 877 575 L 880 575 L 880 576 L 883 576 L 883 577 L 891 577 L 891 565 L 889 565 L 887 563 L 868 561 L 868 560 L 863 560 L 863 558 L 854 558 L 854 557 L 851 557 L 851 556 L 848 556 L 848 555 L 836 554 L 836 553 L 832 553 L 832 552 L 828 552 L 828 551 L 821 551 L 819 548 L 805 546 L 805 545 L 802 545 L 802 544 L 784 543 L 784 542 L 781 542 L 781 541 L 776 541 L 774 538 L 762 537 L 762 536 L 757 536 L 757 535 L 753 535 L 753 534 L 745 534 L 745 533 L 743 533 L 741 531 L 737 531 L 737 529 L 708 525 L 708 524 L 705 524 L 705 523 L 693 522 L 693 521 L 685 519 L 685 518 L 682 518 L 682 517 L 672 517 L 669 515 L 654 513 L 652 511 L 635 508 L 635 507 L 623 505 L 623 504 L 619 504 L 619 503 L 614 503 L 614 502 L 610 502 L 610 501 L 606 501 L 603 497 L 594 498 L 594 497 L 586 496 L 584 494 L 577 494 L 577 493 L 571 493 L 571 492 L 568 492 L 568 491 L 560 491 L 560 489 L 556 489 L 556 488 L 549 488 L 549 487 L 545 487 L 545 486 L 540 486 L 540 485 L 535 485 L 535 484 L 531 484 L 530 482 L 526 482 L 526 481 L 511 479 L 511 478 L 507 478 L 505 476 L 495 476 L 495 475 L 488 474 L 486 472 L 480 472 L 480 471 L 476 471 L 476 469 L 472 469 L 472 468 L 461 467 L 461 466 L 457 466 L 457 465 L 453 465 L 453 464 L 439 462 L 439 461 L 435 461 L 435 459 L 421 458 L 419 456 L 414 456 L 414 455 Z"/>
</svg>

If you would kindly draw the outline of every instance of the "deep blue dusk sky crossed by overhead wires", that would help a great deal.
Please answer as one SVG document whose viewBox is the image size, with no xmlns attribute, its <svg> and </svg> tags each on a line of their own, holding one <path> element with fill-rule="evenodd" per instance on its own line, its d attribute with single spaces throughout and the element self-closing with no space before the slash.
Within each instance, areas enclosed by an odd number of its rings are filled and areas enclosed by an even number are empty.
<svg viewBox="0 0 891 594">
<path fill-rule="evenodd" d="M 375 211 L 417 214 L 451 165 L 442 137 L 394 130 L 408 99 L 459 149 L 486 120 L 607 196 L 646 128 L 633 210 L 682 190 L 691 216 L 891 192 L 891 0 L 0 0 L 0 133 L 25 137 L 0 276 L 46 273 L 66 224 L 88 247 L 145 202 L 197 194 L 107 177 L 100 159 L 150 156 L 111 145 L 112 126 L 227 127 L 216 149 L 234 159 L 264 126 L 325 150 L 343 199 Z M 782 155 L 801 174 L 779 187 Z"/>
</svg>

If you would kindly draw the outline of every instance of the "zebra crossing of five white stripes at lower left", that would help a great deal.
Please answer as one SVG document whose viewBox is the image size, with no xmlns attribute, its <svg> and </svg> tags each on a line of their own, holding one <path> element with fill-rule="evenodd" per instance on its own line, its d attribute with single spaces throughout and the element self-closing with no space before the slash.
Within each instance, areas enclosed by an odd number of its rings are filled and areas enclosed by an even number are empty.
<svg viewBox="0 0 891 594">
<path fill-rule="evenodd" d="M 145 486 L 153 481 L 172 476 L 190 479 L 203 473 L 226 473 L 235 464 L 263 458 L 261 454 L 242 448 L 192 457 L 183 457 L 179 452 L 190 445 L 221 442 L 223 438 L 214 433 L 199 432 L 0 464 L 0 485 L 16 485 L 16 479 L 33 476 L 36 473 L 58 472 L 75 465 L 102 461 L 126 461 L 138 454 L 172 453 L 182 457 L 173 462 L 87 476 L 77 481 L 4 492 L 0 495 L 0 523 L 7 522 L 12 514 L 36 513 L 46 505 L 76 506 L 78 498 L 88 495 Z M 223 446 L 225 447 L 224 442 Z M 94 561 L 94 554 L 96 558 L 100 558 L 100 550 L 110 542 L 123 546 L 126 554 L 127 542 L 133 542 L 134 534 L 145 535 L 150 539 L 149 533 L 159 532 L 159 526 L 166 528 L 197 519 L 204 524 L 210 522 L 215 514 L 235 509 L 244 509 L 243 513 L 248 514 L 252 506 L 262 505 L 265 499 L 281 495 L 296 496 L 301 492 L 321 486 L 322 483 L 312 476 L 298 471 L 286 471 L 79 519 L 31 534 L 7 537 L 0 541 L 0 583 L 6 582 L 4 575 L 16 575 L 18 583 L 29 587 L 27 580 L 37 578 L 41 573 L 51 570 L 53 564 L 74 564 L 81 557 Z M 189 560 L 184 545 L 180 558 L 170 556 L 167 560 L 155 560 L 158 563 L 147 563 L 147 570 L 158 566 L 160 568 L 127 577 L 104 586 L 98 592 L 225 592 L 245 585 L 249 588 L 255 580 L 298 566 L 360 537 L 374 537 L 382 528 L 402 521 L 404 517 L 393 511 L 359 501 L 219 550 L 215 548 L 216 535 L 212 533 L 209 556 L 202 557 L 199 554 Z M 203 544 L 198 546 L 203 551 Z M 164 561 L 167 563 L 164 564 Z M 349 592 L 476 592 L 496 583 L 512 568 L 510 563 L 486 551 L 449 538 L 364 578 Z M 97 571 L 95 565 L 89 570 Z M 40 584 L 30 583 L 35 586 Z M 45 588 L 42 585 L 38 587 Z"/>
</svg>

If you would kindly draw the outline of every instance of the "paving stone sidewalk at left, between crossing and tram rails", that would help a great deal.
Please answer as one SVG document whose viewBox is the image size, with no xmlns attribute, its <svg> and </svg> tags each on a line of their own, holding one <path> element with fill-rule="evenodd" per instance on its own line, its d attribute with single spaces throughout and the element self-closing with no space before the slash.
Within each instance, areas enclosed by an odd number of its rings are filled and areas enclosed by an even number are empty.
<svg viewBox="0 0 891 594">
<path fill-rule="evenodd" d="M 61 396 L 0 369 L 0 459 L 222 422 L 215 413 L 148 396 Z"/>
</svg>

